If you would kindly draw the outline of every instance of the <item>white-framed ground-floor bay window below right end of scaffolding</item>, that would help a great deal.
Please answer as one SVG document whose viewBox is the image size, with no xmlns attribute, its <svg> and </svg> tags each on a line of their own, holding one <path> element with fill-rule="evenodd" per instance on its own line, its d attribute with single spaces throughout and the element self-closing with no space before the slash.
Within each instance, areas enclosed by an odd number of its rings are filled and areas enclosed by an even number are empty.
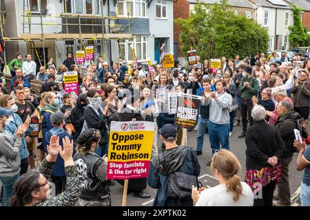
<svg viewBox="0 0 310 220">
<path fill-rule="evenodd" d="M 136 54 L 138 61 L 146 61 L 148 57 L 147 36 L 135 36 L 133 40 L 121 40 L 118 43 L 118 56 L 125 58 L 126 61 L 134 61 L 132 49 Z"/>
</svg>

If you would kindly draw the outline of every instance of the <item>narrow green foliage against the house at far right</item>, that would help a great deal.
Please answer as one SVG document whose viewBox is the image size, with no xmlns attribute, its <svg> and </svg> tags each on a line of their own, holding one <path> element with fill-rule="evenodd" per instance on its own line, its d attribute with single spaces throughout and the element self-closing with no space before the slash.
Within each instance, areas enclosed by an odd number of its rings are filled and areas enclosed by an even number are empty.
<svg viewBox="0 0 310 220">
<path fill-rule="evenodd" d="M 293 47 L 308 47 L 310 45 L 310 34 L 307 33 L 307 28 L 302 25 L 300 12 L 302 11 L 296 5 L 291 5 L 293 9 L 294 24 L 289 27 L 289 41 Z"/>
</svg>

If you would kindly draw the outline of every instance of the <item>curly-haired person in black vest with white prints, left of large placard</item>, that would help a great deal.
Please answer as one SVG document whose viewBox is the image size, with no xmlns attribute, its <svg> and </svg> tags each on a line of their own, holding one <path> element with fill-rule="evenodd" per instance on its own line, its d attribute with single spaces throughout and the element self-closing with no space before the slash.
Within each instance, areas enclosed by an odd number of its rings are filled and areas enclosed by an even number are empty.
<svg viewBox="0 0 310 220">
<path fill-rule="evenodd" d="M 83 187 L 77 205 L 111 206 L 110 181 L 107 180 L 107 157 L 99 157 L 94 151 L 99 147 L 101 131 L 87 129 L 76 140 L 74 162 Z"/>
</svg>

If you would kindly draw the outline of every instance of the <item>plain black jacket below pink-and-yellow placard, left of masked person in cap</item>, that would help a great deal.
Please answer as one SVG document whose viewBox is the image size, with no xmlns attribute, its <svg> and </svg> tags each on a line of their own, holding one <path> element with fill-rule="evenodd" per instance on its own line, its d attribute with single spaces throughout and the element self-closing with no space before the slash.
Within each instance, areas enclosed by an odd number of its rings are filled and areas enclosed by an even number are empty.
<svg viewBox="0 0 310 220">
<path fill-rule="evenodd" d="M 76 107 L 71 111 L 71 121 L 75 129 L 74 140 L 76 140 L 81 134 L 84 124 L 84 106 L 81 105 L 81 96 L 77 98 Z"/>
</svg>

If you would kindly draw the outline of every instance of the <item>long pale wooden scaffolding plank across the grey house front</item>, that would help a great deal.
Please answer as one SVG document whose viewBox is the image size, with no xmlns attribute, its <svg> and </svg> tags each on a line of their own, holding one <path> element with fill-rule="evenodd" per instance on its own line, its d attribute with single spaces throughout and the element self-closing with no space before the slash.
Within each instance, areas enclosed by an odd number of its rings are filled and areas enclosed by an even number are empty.
<svg viewBox="0 0 310 220">
<path fill-rule="evenodd" d="M 21 34 L 21 40 L 32 39 L 131 39 L 132 34 Z"/>
</svg>

